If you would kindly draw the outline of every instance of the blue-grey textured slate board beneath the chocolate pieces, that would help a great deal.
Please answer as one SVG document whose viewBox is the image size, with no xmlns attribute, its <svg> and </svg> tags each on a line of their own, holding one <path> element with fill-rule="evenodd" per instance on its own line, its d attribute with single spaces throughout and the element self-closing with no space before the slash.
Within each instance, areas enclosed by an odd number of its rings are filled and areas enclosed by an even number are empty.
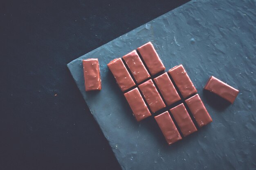
<svg viewBox="0 0 256 170">
<path fill-rule="evenodd" d="M 148 41 L 166 70 L 184 65 L 213 119 L 171 146 L 153 117 L 135 121 L 107 68 L 114 58 Z M 252 170 L 256 169 L 255 42 L 254 0 L 194 0 L 67 66 L 122 169 Z M 85 93 L 81 60 L 91 57 L 99 58 L 102 90 Z M 240 90 L 234 104 L 203 91 L 211 75 Z"/>
</svg>

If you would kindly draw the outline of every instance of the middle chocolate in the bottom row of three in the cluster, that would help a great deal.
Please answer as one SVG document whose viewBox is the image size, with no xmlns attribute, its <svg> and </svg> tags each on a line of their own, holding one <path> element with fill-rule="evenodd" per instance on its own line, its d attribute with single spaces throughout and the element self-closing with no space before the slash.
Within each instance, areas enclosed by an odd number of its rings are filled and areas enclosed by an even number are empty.
<svg viewBox="0 0 256 170">
<path fill-rule="evenodd" d="M 171 108 L 170 111 L 184 136 L 190 135 L 191 133 L 197 131 L 183 103 Z"/>
</svg>

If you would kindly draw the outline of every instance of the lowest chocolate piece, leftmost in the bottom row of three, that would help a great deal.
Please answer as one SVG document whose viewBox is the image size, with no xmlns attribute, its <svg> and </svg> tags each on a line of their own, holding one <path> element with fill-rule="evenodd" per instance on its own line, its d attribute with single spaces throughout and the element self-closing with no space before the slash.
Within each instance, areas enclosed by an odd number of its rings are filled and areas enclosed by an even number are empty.
<svg viewBox="0 0 256 170">
<path fill-rule="evenodd" d="M 155 120 L 169 145 L 182 139 L 168 111 L 155 116 Z"/>
</svg>

